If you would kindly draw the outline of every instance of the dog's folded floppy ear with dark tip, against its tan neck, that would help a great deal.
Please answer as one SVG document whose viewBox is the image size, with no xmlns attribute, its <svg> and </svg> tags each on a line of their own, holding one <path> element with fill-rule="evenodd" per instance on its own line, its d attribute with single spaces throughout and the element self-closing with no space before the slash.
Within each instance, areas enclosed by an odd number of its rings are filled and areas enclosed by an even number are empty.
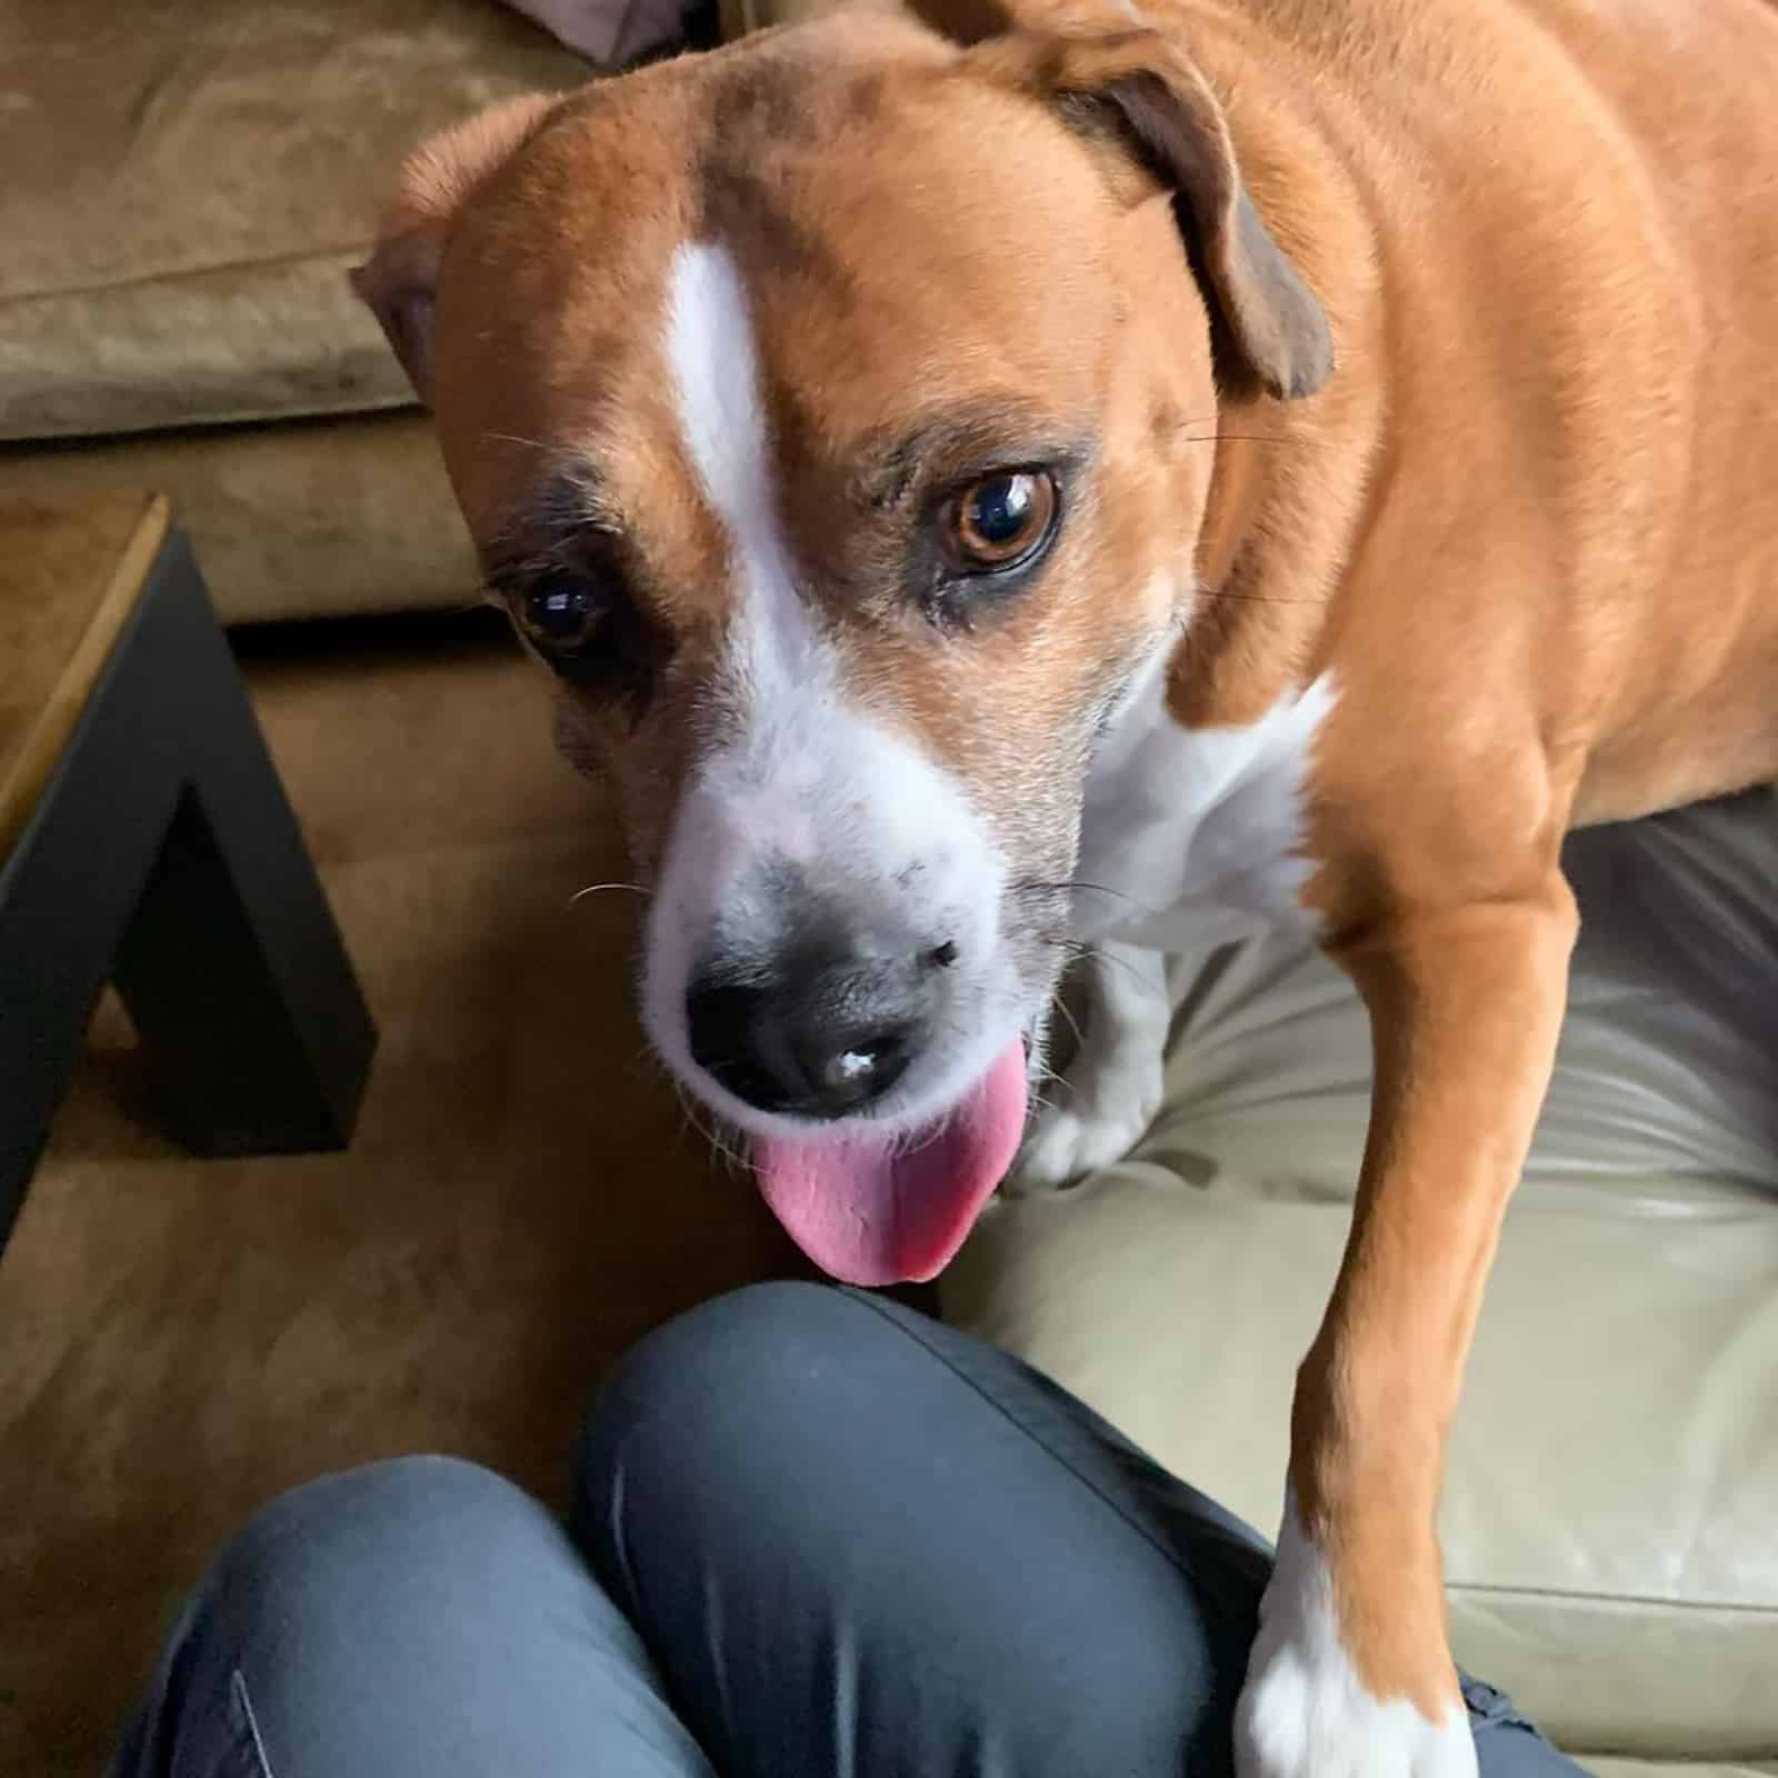
<svg viewBox="0 0 1778 1778">
<path fill-rule="evenodd" d="M 1326 315 L 1271 238 L 1236 165 L 1216 94 L 1159 32 L 989 39 L 973 55 L 999 64 L 1079 128 L 1111 128 L 1172 188 L 1198 283 L 1211 299 L 1218 375 L 1269 395 L 1314 395 L 1334 370 Z"/>
</svg>

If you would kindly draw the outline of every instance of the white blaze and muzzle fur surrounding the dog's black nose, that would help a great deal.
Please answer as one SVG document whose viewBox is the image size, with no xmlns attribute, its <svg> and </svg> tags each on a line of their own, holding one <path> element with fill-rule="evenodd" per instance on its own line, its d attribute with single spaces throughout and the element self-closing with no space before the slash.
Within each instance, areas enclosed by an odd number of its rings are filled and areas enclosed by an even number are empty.
<svg viewBox="0 0 1778 1778">
<path fill-rule="evenodd" d="M 802 910 L 861 948 L 953 944 L 971 1028 L 909 1069 L 903 1097 L 960 1095 L 1005 1044 L 1005 866 L 957 777 L 864 709 L 804 596 L 777 510 L 772 428 L 761 396 L 747 288 L 720 242 L 690 242 L 667 279 L 663 347 L 679 443 L 727 544 L 727 635 L 711 709 L 663 861 L 649 921 L 644 1017 L 667 1060 L 740 1122 L 690 1061 L 685 994 L 720 933 L 770 946 L 791 866 L 816 903 Z M 754 960 L 756 964 L 759 958 Z M 980 980 L 971 980 L 980 976 Z M 930 1109 L 930 1106 L 921 1106 Z"/>
</svg>

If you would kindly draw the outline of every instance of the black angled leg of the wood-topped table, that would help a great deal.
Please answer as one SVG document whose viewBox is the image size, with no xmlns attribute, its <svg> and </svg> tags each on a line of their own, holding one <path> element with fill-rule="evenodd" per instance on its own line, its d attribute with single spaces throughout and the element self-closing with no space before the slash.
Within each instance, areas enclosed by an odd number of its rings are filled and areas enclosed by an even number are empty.
<svg viewBox="0 0 1778 1778">
<path fill-rule="evenodd" d="M 107 978 L 196 1152 L 350 1140 L 375 1029 L 178 533 L 0 868 L 0 1243 Z"/>
</svg>

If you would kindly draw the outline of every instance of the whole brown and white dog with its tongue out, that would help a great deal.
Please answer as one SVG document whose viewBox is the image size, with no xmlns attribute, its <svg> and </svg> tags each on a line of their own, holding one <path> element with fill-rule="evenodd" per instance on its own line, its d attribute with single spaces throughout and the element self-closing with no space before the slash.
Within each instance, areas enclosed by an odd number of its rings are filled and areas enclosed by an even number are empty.
<svg viewBox="0 0 1778 1778">
<path fill-rule="evenodd" d="M 1239 1762 L 1470 1773 L 1435 1508 L 1558 848 L 1778 772 L 1778 11 L 1012 5 L 496 108 L 359 288 L 622 789 L 647 1029 L 829 1271 L 930 1277 L 1021 1143 L 1118 1154 L 1195 907 L 1351 973 Z"/>
</svg>

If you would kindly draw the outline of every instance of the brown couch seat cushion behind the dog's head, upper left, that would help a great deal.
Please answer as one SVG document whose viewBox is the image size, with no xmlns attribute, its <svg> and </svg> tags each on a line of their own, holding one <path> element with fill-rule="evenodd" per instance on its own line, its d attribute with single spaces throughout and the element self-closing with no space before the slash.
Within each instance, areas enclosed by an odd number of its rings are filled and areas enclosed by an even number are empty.
<svg viewBox="0 0 1778 1778">
<path fill-rule="evenodd" d="M 587 75 L 494 0 L 0 0 L 0 439 L 405 405 L 345 283 L 400 156 Z"/>
</svg>

